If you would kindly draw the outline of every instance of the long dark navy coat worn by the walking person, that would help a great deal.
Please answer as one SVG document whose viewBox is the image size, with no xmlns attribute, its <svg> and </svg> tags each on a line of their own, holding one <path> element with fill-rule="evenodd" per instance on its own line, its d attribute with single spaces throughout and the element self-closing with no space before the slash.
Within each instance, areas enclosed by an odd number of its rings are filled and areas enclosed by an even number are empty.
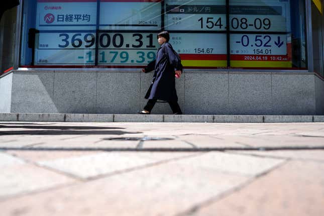
<svg viewBox="0 0 324 216">
<path fill-rule="evenodd" d="M 161 45 L 157 51 L 156 59 L 145 68 L 146 73 L 152 70 L 154 70 L 153 81 L 145 98 L 178 101 L 174 71 L 182 71 L 182 65 L 168 42 Z"/>
</svg>

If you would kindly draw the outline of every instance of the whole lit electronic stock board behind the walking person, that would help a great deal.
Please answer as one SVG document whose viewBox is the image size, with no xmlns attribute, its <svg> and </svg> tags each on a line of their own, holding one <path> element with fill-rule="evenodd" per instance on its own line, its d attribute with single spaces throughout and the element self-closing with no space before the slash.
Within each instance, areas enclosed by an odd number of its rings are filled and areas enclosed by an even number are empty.
<svg viewBox="0 0 324 216">
<path fill-rule="evenodd" d="M 34 64 L 146 65 L 164 29 L 185 67 L 224 68 L 230 55 L 231 67 L 289 68 L 289 9 L 288 0 L 230 1 L 229 33 L 225 1 L 38 0 Z"/>
</svg>

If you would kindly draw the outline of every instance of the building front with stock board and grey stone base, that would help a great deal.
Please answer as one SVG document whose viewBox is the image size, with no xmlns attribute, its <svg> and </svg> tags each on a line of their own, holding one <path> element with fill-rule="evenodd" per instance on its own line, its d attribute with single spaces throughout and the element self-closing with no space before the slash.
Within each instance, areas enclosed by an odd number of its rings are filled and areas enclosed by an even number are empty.
<svg viewBox="0 0 324 216">
<path fill-rule="evenodd" d="M 136 113 L 161 31 L 184 114 L 324 115 L 320 0 L 20 0 L 1 19 L 0 113 Z"/>
</svg>

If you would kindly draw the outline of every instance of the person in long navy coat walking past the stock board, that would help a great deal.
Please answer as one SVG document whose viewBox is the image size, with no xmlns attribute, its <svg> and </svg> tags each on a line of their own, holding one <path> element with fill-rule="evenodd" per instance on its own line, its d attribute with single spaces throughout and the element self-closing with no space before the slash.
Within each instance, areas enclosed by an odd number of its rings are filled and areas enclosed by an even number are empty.
<svg viewBox="0 0 324 216">
<path fill-rule="evenodd" d="M 157 51 L 156 59 L 142 69 L 144 73 L 154 70 L 153 81 L 145 95 L 148 102 L 138 113 L 151 114 L 157 100 L 163 100 L 169 103 L 174 115 L 181 115 L 175 90 L 175 77 L 179 78 L 182 73 L 181 60 L 169 43 L 170 36 L 167 31 L 159 33 L 157 38 L 161 47 Z"/>
</svg>

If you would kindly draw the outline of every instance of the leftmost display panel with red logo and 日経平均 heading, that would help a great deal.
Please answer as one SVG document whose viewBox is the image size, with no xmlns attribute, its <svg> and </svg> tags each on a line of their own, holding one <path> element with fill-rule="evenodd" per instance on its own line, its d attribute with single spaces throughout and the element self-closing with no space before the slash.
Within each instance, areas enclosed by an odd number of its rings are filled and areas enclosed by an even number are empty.
<svg viewBox="0 0 324 216">
<path fill-rule="evenodd" d="M 37 1 L 34 65 L 94 65 L 96 1 Z"/>
</svg>

